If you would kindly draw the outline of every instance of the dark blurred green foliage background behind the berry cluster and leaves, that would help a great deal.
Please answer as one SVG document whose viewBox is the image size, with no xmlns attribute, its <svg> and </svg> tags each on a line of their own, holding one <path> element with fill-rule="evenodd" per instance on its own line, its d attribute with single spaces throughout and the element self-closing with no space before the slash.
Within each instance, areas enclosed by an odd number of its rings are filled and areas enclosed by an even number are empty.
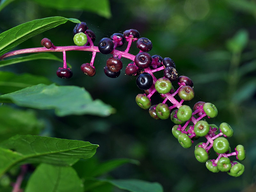
<svg viewBox="0 0 256 192">
<path fill-rule="evenodd" d="M 1 68 L 17 74 L 31 73 L 49 78 L 59 85 L 76 85 L 88 90 L 116 108 L 116 114 L 57 117 L 51 110 L 35 110 L 44 123 L 43 136 L 85 140 L 99 144 L 95 159 L 133 158 L 140 166 L 124 165 L 111 173 L 116 179 L 137 178 L 157 181 L 164 191 L 256 191 L 256 2 L 253 0 L 141 0 L 109 1 L 109 18 L 85 11 L 57 10 L 33 1 L 14 1 L 0 12 L 0 32 L 21 23 L 50 16 L 77 18 L 85 21 L 96 34 L 95 45 L 103 37 L 135 28 L 141 37 L 153 43 L 151 55 L 159 54 L 175 61 L 179 75 L 194 81 L 195 98 L 184 104 L 193 107 L 199 101 L 211 102 L 219 115 L 209 123 L 226 122 L 234 129 L 229 138 L 232 151 L 244 145 L 244 174 L 238 178 L 227 173 L 209 172 L 196 161 L 194 145 L 180 146 L 172 135 L 171 120 L 157 121 L 135 102 L 143 93 L 135 84 L 136 77 L 125 76 L 124 68 L 116 79 L 108 78 L 103 67 L 110 55 L 97 53 L 96 75 L 87 77 L 80 65 L 90 62 L 91 52 L 67 52 L 73 77 L 60 79 L 56 70 L 60 62 L 29 61 Z M 15 49 L 40 47 L 47 37 L 56 46 L 73 45 L 74 23 L 67 22 L 37 35 Z M 124 50 L 125 47 L 121 48 Z M 130 53 L 137 54 L 136 44 Z M 55 53 L 59 58 L 62 53 Z M 123 59 L 124 67 L 129 60 Z M 162 72 L 156 74 L 161 77 Z M 174 85 L 177 84 L 174 83 Z M 1 92 L 1 90 L 0 90 Z M 159 96 L 152 103 L 162 101 Z M 68 103 L 65 103 L 68 105 Z M 201 138 L 195 142 L 206 141 Z M 212 153 L 210 158 L 216 158 Z M 231 158 L 235 160 L 235 158 Z M 117 190 L 116 190 L 117 191 Z"/>
</svg>

